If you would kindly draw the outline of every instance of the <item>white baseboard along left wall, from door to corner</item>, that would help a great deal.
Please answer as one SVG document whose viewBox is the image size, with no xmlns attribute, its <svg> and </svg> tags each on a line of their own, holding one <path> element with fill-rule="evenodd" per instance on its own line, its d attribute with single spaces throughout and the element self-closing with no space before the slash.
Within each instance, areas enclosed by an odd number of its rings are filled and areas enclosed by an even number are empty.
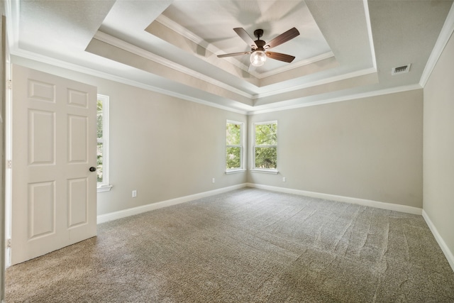
<svg viewBox="0 0 454 303">
<path fill-rule="evenodd" d="M 243 187 L 246 187 L 245 183 L 233 185 L 230 187 L 223 187 L 220 189 L 214 189 L 214 190 L 210 190 L 209 192 L 200 192 L 199 194 L 191 194 L 189 196 L 179 197 L 179 198 L 156 202 L 156 203 L 150 203 L 150 204 L 143 205 L 143 206 L 133 207 L 131 209 L 123 209 L 121 211 L 114 211 L 109 214 L 101 214 L 101 215 L 97 216 L 96 223 L 100 224 L 100 223 L 104 223 L 107 221 L 121 219 L 126 216 L 142 214 L 146 211 L 153 211 L 155 209 L 160 209 L 162 207 L 171 206 L 171 205 L 175 205 L 175 204 L 189 202 L 189 201 L 196 200 L 196 199 L 201 199 L 204 197 L 213 196 L 214 194 L 222 194 L 223 192 L 230 192 L 231 190 L 240 189 Z"/>
</svg>

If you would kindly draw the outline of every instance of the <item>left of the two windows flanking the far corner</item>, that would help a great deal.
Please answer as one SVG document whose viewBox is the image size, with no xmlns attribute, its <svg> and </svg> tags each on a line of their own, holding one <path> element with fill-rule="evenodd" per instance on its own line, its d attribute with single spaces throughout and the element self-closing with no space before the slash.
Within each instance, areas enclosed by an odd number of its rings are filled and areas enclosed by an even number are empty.
<svg viewBox="0 0 454 303">
<path fill-rule="evenodd" d="M 243 171 L 243 123 L 227 121 L 226 124 L 226 172 Z"/>
</svg>

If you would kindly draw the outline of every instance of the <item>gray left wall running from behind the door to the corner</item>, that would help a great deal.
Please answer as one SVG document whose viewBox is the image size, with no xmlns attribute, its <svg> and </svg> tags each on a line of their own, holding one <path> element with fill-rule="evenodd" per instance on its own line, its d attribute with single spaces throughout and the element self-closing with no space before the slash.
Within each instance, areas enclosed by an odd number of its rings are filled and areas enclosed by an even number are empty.
<svg viewBox="0 0 454 303">
<path fill-rule="evenodd" d="M 246 182 L 245 172 L 225 174 L 225 142 L 226 120 L 246 125 L 247 116 L 24 58 L 12 60 L 92 84 L 109 96 L 109 181 L 114 187 L 98 194 L 99 215 Z"/>
</svg>

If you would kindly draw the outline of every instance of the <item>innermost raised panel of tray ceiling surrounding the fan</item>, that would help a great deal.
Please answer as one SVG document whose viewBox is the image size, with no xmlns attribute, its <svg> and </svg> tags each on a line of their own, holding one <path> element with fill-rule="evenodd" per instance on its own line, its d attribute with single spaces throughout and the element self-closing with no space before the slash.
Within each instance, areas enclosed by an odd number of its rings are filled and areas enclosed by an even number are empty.
<svg viewBox="0 0 454 303">
<path fill-rule="evenodd" d="M 244 28 L 253 40 L 254 31 L 260 28 L 263 30 L 261 40 L 266 42 L 290 28 L 297 28 L 300 33 L 297 38 L 272 48 L 273 52 L 293 55 L 294 61 L 287 63 L 268 58 L 265 65 L 251 70 L 259 75 L 276 69 L 282 72 L 282 68 L 297 67 L 313 57 L 331 53 L 304 1 L 174 1 L 162 15 L 201 38 L 211 50 L 217 50 L 216 55 L 250 50 L 233 28 Z M 249 55 L 231 58 L 249 66 Z"/>
</svg>

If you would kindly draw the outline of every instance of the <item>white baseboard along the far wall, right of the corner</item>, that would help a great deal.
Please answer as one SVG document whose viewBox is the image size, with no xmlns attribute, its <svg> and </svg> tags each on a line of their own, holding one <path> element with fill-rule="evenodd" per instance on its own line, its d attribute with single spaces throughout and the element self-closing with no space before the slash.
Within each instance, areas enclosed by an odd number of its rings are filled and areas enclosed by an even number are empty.
<svg viewBox="0 0 454 303">
<path fill-rule="evenodd" d="M 422 209 L 419 209 L 418 207 L 406 206 L 406 205 L 401 205 L 401 204 L 392 204 L 392 203 L 377 202 L 377 201 L 372 201 L 372 200 L 367 200 L 367 199 L 344 197 L 344 196 L 338 196 L 336 194 L 321 194 L 320 192 L 306 192 L 305 190 L 289 189 L 289 188 L 284 188 L 284 187 L 274 187 L 274 186 L 262 185 L 262 184 L 247 183 L 247 185 L 248 185 L 248 187 L 267 189 L 267 190 L 272 190 L 275 192 L 285 192 L 287 194 L 300 194 L 301 196 L 306 196 L 306 197 L 327 199 L 327 200 L 333 200 L 333 201 L 339 201 L 339 202 L 347 202 L 347 203 L 351 203 L 351 204 L 360 204 L 360 205 L 364 205 L 364 206 L 377 207 L 379 209 L 388 209 L 391 211 L 401 211 L 401 212 L 405 212 L 408 214 L 419 214 L 419 215 L 422 214 Z"/>
</svg>

